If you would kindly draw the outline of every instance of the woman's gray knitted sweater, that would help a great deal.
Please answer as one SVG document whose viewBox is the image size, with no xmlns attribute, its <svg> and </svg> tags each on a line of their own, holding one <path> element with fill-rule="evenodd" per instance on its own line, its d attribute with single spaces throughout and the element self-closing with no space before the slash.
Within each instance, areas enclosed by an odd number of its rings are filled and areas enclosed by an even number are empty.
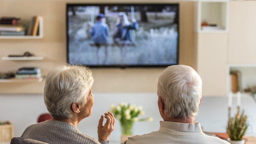
<svg viewBox="0 0 256 144">
<path fill-rule="evenodd" d="M 21 137 L 30 138 L 46 143 L 84 143 L 84 144 L 109 144 L 109 141 L 97 141 L 95 138 L 81 133 L 76 126 L 67 122 L 47 120 L 30 125 Z"/>
</svg>

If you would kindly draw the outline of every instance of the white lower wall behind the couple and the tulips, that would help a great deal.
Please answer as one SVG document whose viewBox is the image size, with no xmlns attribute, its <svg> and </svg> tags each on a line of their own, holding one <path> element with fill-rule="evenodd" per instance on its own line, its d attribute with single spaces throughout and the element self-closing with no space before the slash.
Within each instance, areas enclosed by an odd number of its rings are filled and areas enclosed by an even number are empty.
<svg viewBox="0 0 256 144">
<path fill-rule="evenodd" d="M 93 114 L 81 121 L 78 129 L 97 138 L 97 125 L 100 115 L 109 110 L 110 104 L 128 102 L 142 105 L 145 117 L 152 116 L 154 121 L 137 122 L 134 134 L 145 134 L 159 129 L 157 95 L 154 93 L 94 93 Z M 236 99 L 233 101 L 235 112 Z M 256 104 L 250 97 L 242 97 L 242 107 L 249 115 L 250 126 L 247 135 L 256 135 Z M 0 95 L 0 120 L 9 120 L 14 125 L 14 136 L 20 136 L 25 128 L 36 123 L 39 114 L 47 112 L 42 95 Z M 141 116 L 141 117 L 143 117 Z M 203 97 L 196 122 L 200 122 L 205 131 L 225 132 L 227 122 L 227 97 Z M 120 139 L 120 124 L 116 122 L 110 140 Z"/>
</svg>

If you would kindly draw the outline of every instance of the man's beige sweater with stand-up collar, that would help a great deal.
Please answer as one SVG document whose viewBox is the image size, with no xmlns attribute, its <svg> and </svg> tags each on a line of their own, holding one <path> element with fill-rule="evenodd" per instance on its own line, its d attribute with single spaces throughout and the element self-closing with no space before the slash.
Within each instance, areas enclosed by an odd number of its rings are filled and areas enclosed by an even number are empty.
<svg viewBox="0 0 256 144">
<path fill-rule="evenodd" d="M 126 144 L 228 144 L 229 142 L 217 137 L 207 136 L 197 124 L 160 121 L 159 131 L 145 135 L 129 137 Z"/>
</svg>

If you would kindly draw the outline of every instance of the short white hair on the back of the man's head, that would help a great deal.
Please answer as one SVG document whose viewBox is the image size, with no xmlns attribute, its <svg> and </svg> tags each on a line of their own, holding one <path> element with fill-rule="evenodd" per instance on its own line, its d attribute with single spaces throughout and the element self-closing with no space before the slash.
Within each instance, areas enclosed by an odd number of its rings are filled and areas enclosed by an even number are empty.
<svg viewBox="0 0 256 144">
<path fill-rule="evenodd" d="M 202 80 L 189 66 L 169 66 L 158 79 L 157 95 L 162 98 L 164 113 L 169 118 L 190 119 L 198 114 Z"/>
</svg>

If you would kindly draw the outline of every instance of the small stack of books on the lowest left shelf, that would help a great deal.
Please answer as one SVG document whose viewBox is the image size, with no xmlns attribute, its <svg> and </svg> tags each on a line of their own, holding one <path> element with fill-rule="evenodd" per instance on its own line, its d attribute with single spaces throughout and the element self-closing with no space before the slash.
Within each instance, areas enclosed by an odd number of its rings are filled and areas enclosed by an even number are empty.
<svg viewBox="0 0 256 144">
<path fill-rule="evenodd" d="M 38 67 L 22 67 L 17 71 L 15 78 L 41 78 L 41 69 Z"/>
</svg>

